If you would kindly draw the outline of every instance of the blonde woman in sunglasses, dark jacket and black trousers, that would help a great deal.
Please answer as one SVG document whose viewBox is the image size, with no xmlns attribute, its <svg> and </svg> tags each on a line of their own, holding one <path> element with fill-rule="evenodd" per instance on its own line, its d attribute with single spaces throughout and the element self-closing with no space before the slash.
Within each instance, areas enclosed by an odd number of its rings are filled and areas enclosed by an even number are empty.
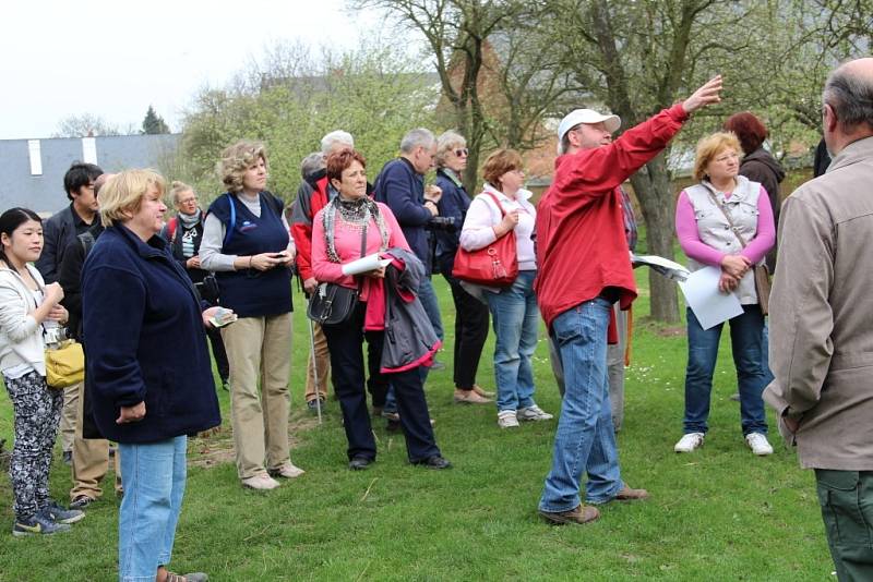
<svg viewBox="0 0 873 582">
<path fill-rule="evenodd" d="M 461 175 L 467 167 L 467 142 L 453 131 L 436 140 L 436 185 L 443 191 L 436 207 L 440 217 L 453 220 L 454 228 L 434 230 L 436 266 L 452 288 L 455 304 L 455 402 L 487 404 L 491 402 L 478 384 L 476 372 L 488 339 L 488 305 L 469 294 L 452 276 L 461 240 L 461 227 L 470 207 L 470 196 Z"/>
</svg>

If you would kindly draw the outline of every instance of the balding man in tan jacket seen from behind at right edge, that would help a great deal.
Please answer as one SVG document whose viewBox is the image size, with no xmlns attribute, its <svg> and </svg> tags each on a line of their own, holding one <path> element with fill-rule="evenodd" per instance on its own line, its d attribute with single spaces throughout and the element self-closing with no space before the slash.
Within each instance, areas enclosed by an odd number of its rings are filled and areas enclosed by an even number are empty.
<svg viewBox="0 0 873 582">
<path fill-rule="evenodd" d="M 873 59 L 835 70 L 823 104 L 834 161 L 782 205 L 764 398 L 815 470 L 839 580 L 873 580 Z"/>
</svg>

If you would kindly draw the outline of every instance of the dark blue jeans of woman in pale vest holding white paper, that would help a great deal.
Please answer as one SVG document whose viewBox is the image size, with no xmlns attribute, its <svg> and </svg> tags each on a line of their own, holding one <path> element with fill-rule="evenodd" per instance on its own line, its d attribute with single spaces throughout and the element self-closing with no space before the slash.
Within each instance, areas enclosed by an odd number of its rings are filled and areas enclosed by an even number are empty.
<svg viewBox="0 0 873 582">
<path fill-rule="evenodd" d="M 706 433 L 709 428 L 709 400 L 718 343 L 725 324 L 703 329 L 694 312 L 687 310 L 689 363 L 685 368 L 684 433 Z M 767 416 L 761 398 L 767 385 L 762 362 L 764 316 L 757 305 L 743 305 L 742 315 L 730 320 L 730 341 L 737 384 L 740 390 L 740 424 L 743 435 L 767 434 Z"/>
</svg>

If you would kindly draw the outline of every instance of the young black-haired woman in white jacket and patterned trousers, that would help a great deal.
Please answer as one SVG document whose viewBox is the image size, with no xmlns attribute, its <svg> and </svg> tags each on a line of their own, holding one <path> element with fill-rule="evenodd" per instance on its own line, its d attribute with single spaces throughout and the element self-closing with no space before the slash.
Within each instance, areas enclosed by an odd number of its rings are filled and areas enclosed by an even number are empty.
<svg viewBox="0 0 873 582">
<path fill-rule="evenodd" d="M 51 449 L 63 392 L 46 384 L 44 329 L 63 325 L 63 290 L 46 286 L 31 265 L 43 252 L 43 222 L 26 208 L 0 215 L 0 373 L 15 415 L 9 475 L 14 496 L 13 535 L 51 534 L 85 514 L 67 510 L 48 495 Z"/>
</svg>

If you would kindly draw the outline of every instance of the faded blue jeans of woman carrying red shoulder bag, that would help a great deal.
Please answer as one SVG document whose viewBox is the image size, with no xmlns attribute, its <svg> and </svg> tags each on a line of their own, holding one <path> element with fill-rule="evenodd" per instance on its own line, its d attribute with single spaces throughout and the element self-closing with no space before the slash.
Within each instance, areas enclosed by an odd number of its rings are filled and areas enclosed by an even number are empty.
<svg viewBox="0 0 873 582">
<path fill-rule="evenodd" d="M 539 310 L 534 293 L 535 270 L 523 270 L 511 287 L 487 292 L 494 326 L 494 380 L 498 411 L 534 405 L 534 369 Z"/>
</svg>

